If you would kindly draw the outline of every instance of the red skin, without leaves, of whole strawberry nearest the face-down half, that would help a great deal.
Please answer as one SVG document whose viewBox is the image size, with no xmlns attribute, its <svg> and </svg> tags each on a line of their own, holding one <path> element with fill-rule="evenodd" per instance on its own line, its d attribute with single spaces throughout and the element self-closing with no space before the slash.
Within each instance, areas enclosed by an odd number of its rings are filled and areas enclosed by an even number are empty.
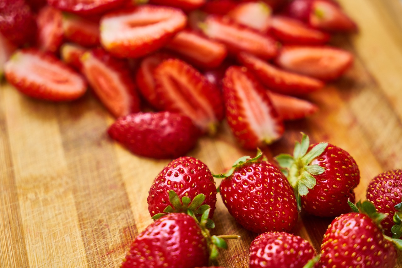
<svg viewBox="0 0 402 268">
<path fill-rule="evenodd" d="M 148 195 L 148 211 L 151 216 L 163 213 L 170 204 L 170 190 L 174 190 L 180 200 L 187 196 L 191 200 L 204 194 L 203 204 L 211 207 L 212 218 L 216 204 L 216 186 L 207 165 L 194 157 L 180 157 L 170 162 L 154 179 Z M 201 215 L 196 215 L 201 216 Z"/>
</svg>

